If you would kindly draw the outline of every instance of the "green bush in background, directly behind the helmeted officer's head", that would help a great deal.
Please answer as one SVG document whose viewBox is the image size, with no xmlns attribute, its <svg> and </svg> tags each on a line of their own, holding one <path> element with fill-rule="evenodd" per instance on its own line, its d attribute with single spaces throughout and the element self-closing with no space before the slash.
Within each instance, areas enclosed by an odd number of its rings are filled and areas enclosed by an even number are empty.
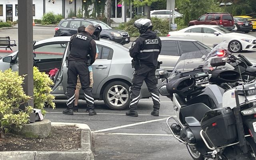
<svg viewBox="0 0 256 160">
<path fill-rule="evenodd" d="M 144 17 L 136 17 L 130 20 L 129 22 L 120 24 L 117 29 L 125 30 L 129 33 L 131 37 L 138 37 L 140 35 L 139 31 L 134 27 L 134 22 L 140 18 Z M 153 30 L 160 31 L 158 36 L 166 36 L 169 32 L 169 20 L 168 19 L 160 19 L 153 17 L 151 18 L 153 24 Z"/>
</svg>

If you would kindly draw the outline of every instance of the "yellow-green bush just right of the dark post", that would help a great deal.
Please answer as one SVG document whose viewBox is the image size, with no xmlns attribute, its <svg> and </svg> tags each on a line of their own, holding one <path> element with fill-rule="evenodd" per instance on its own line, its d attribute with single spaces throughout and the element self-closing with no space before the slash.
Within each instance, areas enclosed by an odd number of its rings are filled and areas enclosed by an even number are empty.
<svg viewBox="0 0 256 160">
<path fill-rule="evenodd" d="M 54 96 L 50 94 L 52 91 L 51 86 L 54 85 L 48 74 L 40 72 L 38 68 L 33 68 L 33 77 L 34 77 L 34 108 L 42 110 L 44 115 L 46 111 L 44 106 L 48 105 L 52 108 L 55 108 Z"/>
</svg>

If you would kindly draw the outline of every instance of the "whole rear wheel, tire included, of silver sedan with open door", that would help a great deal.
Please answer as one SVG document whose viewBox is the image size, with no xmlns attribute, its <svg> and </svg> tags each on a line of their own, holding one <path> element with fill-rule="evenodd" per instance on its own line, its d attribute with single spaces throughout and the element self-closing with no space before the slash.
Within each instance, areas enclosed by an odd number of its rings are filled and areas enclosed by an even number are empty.
<svg viewBox="0 0 256 160">
<path fill-rule="evenodd" d="M 129 85 L 122 81 L 107 84 L 103 92 L 103 100 L 112 110 L 123 110 L 130 104 Z"/>
</svg>

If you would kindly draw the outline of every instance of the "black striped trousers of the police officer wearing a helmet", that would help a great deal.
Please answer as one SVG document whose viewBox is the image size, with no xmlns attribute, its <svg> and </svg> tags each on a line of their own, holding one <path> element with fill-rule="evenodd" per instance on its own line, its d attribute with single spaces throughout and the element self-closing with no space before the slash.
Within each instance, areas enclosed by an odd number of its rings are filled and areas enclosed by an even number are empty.
<svg viewBox="0 0 256 160">
<path fill-rule="evenodd" d="M 130 110 L 135 111 L 138 106 L 140 99 L 140 89 L 143 84 L 143 81 L 146 82 L 149 92 L 151 92 L 152 100 L 154 103 L 154 110 L 159 110 L 160 108 L 160 98 L 159 92 L 156 87 L 157 79 L 155 77 L 156 68 L 149 67 L 145 64 L 141 64 L 141 67 L 135 69 L 132 77 L 132 86 L 130 88 Z"/>
</svg>

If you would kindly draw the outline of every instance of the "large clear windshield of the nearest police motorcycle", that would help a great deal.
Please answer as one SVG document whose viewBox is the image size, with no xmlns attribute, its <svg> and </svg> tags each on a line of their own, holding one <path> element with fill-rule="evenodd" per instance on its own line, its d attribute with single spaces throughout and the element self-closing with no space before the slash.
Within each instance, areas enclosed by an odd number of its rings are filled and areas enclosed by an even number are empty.
<svg viewBox="0 0 256 160">
<path fill-rule="evenodd" d="M 210 50 L 198 50 L 194 52 L 187 52 L 180 56 L 172 74 L 176 72 L 188 72 L 194 70 L 198 66 L 203 66 L 203 56 L 207 56 Z"/>
</svg>

